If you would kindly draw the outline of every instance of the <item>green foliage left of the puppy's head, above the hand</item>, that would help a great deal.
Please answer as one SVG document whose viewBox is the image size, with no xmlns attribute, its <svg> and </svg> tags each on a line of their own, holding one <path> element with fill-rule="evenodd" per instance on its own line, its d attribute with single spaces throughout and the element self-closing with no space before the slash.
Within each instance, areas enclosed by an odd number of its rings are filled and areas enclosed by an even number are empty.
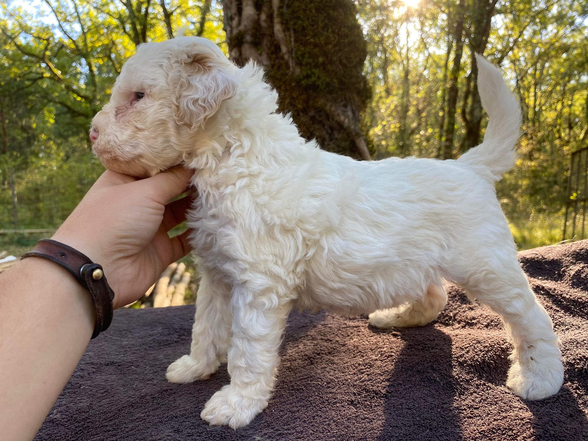
<svg viewBox="0 0 588 441">
<path fill-rule="evenodd" d="M 90 149 L 92 116 L 136 45 L 168 37 L 165 2 L 40 4 L 35 14 L 37 2 L 0 5 L 0 229 L 55 228 L 69 215 L 104 170 Z M 226 50 L 219 8 L 182 0 L 166 11 L 172 30 L 191 26 L 186 34 Z"/>
</svg>

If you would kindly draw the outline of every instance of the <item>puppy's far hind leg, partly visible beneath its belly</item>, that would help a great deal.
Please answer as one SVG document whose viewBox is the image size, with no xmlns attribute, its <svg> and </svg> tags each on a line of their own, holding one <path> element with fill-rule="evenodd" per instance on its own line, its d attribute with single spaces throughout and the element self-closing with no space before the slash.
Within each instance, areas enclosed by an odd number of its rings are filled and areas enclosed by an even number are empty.
<svg viewBox="0 0 588 441">
<path fill-rule="evenodd" d="M 369 323 L 380 329 L 423 326 L 435 320 L 446 303 L 445 289 L 432 284 L 422 300 L 397 308 L 379 309 L 369 315 Z"/>
</svg>

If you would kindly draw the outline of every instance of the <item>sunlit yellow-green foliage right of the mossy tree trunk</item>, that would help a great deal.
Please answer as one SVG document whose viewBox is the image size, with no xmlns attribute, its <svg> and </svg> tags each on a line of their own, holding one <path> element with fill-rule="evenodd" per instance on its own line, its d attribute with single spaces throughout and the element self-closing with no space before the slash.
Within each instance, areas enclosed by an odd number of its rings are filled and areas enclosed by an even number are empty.
<svg viewBox="0 0 588 441">
<path fill-rule="evenodd" d="M 456 48 L 452 32 L 461 15 L 465 45 L 453 151 L 459 155 L 473 147 L 467 138 L 473 93 L 468 83 L 472 45 L 482 38 L 476 14 L 485 11 L 492 26 L 481 49 L 505 72 L 524 117 L 519 161 L 498 183 L 497 193 L 513 219 L 560 216 L 569 153 L 588 143 L 588 4 L 499 1 L 492 10 L 490 4 L 480 9 L 482 3 L 466 0 L 461 10 L 446 0 L 421 0 L 415 8 L 401 1 L 360 2 L 369 50 L 365 74 L 373 91 L 365 119 L 375 156 L 440 157 L 452 81 L 447 71 Z M 483 118 L 482 132 L 485 123 Z"/>
</svg>

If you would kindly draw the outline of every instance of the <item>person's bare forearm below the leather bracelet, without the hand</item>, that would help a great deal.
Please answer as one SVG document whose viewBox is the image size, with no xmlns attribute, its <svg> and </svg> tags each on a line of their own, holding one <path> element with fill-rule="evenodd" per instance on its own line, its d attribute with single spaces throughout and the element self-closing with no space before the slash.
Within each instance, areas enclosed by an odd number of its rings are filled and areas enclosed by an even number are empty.
<svg viewBox="0 0 588 441">
<path fill-rule="evenodd" d="M 65 269 L 29 258 L 0 276 L 2 439 L 32 439 L 92 335 L 87 290 Z"/>
</svg>

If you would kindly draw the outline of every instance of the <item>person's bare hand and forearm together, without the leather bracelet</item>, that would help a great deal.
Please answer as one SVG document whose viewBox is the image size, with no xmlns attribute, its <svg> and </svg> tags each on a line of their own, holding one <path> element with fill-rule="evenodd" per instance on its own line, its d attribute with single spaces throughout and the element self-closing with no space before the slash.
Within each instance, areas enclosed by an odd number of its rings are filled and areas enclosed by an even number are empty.
<svg viewBox="0 0 588 441">
<path fill-rule="evenodd" d="M 53 239 L 99 263 L 115 308 L 139 299 L 189 251 L 185 219 L 191 171 L 136 181 L 106 171 Z M 90 293 L 61 266 L 27 258 L 0 275 L 0 438 L 32 439 L 74 371 L 95 325 Z"/>
</svg>

